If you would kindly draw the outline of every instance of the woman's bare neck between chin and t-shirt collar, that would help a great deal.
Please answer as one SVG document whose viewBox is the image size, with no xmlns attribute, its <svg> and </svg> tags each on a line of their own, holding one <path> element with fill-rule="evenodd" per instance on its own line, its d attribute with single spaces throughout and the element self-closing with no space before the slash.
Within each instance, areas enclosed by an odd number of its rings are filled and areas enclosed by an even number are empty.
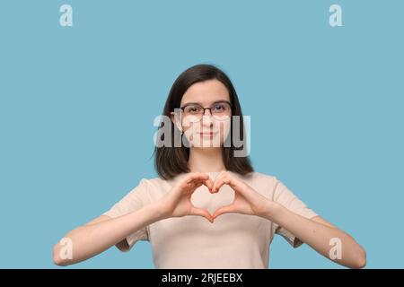
<svg viewBox="0 0 404 287">
<path fill-rule="evenodd" d="M 217 172 L 225 170 L 222 152 L 222 147 L 191 147 L 189 149 L 189 170 L 191 172 Z"/>
</svg>

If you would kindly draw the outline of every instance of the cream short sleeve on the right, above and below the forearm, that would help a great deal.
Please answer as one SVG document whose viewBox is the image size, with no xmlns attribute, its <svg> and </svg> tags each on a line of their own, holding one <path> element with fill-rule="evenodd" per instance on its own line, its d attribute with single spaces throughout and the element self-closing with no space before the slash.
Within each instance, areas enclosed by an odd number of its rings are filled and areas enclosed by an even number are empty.
<svg viewBox="0 0 404 287">
<path fill-rule="evenodd" d="M 282 204 L 290 211 L 308 219 L 312 219 L 318 215 L 317 213 L 314 213 L 312 209 L 307 207 L 303 201 L 297 198 L 297 196 L 295 196 L 294 193 L 285 187 L 285 184 L 277 178 L 274 188 L 273 200 L 278 204 Z M 274 233 L 281 235 L 294 248 L 298 248 L 303 244 L 302 240 L 296 238 L 294 234 L 285 230 L 282 226 L 278 226 L 275 222 L 273 223 L 273 230 Z"/>
</svg>

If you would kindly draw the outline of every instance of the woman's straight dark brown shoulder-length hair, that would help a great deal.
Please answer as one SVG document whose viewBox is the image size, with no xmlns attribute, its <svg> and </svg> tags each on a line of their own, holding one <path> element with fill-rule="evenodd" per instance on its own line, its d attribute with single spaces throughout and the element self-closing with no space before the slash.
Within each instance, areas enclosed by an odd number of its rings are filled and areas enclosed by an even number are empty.
<svg viewBox="0 0 404 287">
<path fill-rule="evenodd" d="M 254 171 L 250 158 L 248 156 L 237 156 L 234 157 L 235 150 L 242 150 L 245 148 L 246 139 L 244 138 L 244 124 L 242 118 L 242 107 L 240 106 L 237 93 L 233 87 L 233 83 L 230 81 L 229 77 L 224 74 L 222 70 L 217 68 L 215 65 L 193 65 L 189 69 L 182 72 L 175 82 L 171 86 L 171 90 L 168 99 L 165 102 L 162 115 L 170 117 L 171 111 L 180 108 L 180 101 L 184 93 L 189 89 L 189 87 L 198 82 L 204 82 L 207 80 L 216 79 L 224 84 L 229 92 L 230 103 L 232 106 L 232 116 L 240 116 L 240 141 L 242 141 L 241 147 L 234 147 L 233 145 L 233 121 L 230 129 L 231 143 L 230 146 L 223 147 L 223 161 L 226 170 L 231 170 L 239 174 L 245 175 L 249 172 Z M 180 133 L 180 130 L 171 121 L 171 135 L 174 133 Z M 163 126 L 160 124 L 159 128 Z M 162 135 L 162 140 L 163 140 Z M 170 146 L 160 146 L 157 145 L 154 148 L 154 168 L 157 171 L 160 178 L 171 179 L 183 172 L 189 172 L 188 160 L 189 160 L 189 147 L 181 144 L 180 147 L 174 146 L 174 136 L 171 136 Z M 229 145 L 229 144 L 227 144 Z"/>
</svg>

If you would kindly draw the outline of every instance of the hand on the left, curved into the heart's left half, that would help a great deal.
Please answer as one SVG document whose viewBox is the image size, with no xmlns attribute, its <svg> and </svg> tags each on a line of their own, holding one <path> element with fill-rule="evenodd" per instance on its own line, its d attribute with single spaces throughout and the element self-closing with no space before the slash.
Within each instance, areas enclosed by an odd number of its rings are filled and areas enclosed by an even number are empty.
<svg viewBox="0 0 404 287">
<path fill-rule="evenodd" d="M 185 215 L 199 215 L 209 222 L 214 222 L 213 216 L 206 210 L 195 207 L 191 203 L 191 196 L 198 187 L 205 185 L 211 192 L 213 183 L 206 173 L 190 172 L 171 188 L 171 190 L 159 200 L 162 210 L 167 217 L 182 217 Z"/>
</svg>

